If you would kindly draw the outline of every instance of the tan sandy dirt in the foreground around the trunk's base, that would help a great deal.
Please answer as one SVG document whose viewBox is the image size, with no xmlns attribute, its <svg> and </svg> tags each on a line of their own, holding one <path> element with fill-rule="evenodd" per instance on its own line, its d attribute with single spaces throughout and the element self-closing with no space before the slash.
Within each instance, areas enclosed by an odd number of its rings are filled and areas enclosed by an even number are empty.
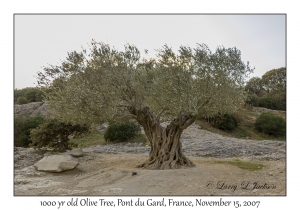
<svg viewBox="0 0 300 210">
<path fill-rule="evenodd" d="M 249 171 L 217 163 L 210 157 L 190 157 L 194 168 L 145 170 L 136 166 L 147 154 L 88 154 L 77 168 L 61 173 L 28 173 L 15 181 L 18 195 L 286 195 L 286 163 L 260 161 Z M 222 159 L 229 160 L 229 159 Z M 250 161 L 243 159 L 242 161 Z M 27 171 L 25 173 L 25 171 Z M 133 175 L 132 172 L 136 172 Z M 26 175 L 27 174 L 27 175 Z M 15 177 L 16 180 L 17 177 Z M 22 181 L 23 179 L 23 181 Z"/>
</svg>

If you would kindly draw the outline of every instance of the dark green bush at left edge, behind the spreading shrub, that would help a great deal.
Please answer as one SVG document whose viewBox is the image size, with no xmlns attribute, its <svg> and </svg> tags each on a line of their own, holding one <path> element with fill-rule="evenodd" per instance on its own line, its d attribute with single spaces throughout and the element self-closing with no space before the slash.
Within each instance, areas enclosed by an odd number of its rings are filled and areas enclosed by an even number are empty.
<svg viewBox="0 0 300 210">
<path fill-rule="evenodd" d="M 15 115 L 14 119 L 14 145 L 16 147 L 28 147 L 32 142 L 30 131 L 44 122 L 44 117 L 36 115 Z"/>
</svg>

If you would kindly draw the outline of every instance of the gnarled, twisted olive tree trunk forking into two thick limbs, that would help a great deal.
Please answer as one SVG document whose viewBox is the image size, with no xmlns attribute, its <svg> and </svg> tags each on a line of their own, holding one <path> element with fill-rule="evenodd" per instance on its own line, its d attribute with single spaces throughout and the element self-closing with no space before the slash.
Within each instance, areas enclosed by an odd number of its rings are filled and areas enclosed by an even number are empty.
<svg viewBox="0 0 300 210">
<path fill-rule="evenodd" d="M 149 159 L 138 167 L 176 169 L 180 166 L 195 166 L 183 155 L 180 142 L 182 131 L 195 121 L 193 116 L 180 113 L 166 128 L 163 128 L 160 125 L 160 117 L 155 117 L 148 107 L 138 110 L 130 107 L 129 111 L 136 116 L 138 123 L 143 126 L 151 145 Z"/>
</svg>

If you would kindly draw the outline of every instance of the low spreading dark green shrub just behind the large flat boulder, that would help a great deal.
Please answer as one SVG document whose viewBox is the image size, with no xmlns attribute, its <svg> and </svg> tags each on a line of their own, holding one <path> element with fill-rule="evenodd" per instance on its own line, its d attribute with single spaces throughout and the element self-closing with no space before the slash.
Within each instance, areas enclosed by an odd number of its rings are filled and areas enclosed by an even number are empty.
<svg viewBox="0 0 300 210">
<path fill-rule="evenodd" d="M 87 125 L 72 125 L 60 122 L 57 119 L 47 119 L 39 127 L 31 130 L 30 138 L 32 143 L 30 146 L 35 148 L 47 146 L 63 152 L 70 148 L 70 135 L 75 135 L 76 137 L 88 131 L 89 126 Z"/>
</svg>

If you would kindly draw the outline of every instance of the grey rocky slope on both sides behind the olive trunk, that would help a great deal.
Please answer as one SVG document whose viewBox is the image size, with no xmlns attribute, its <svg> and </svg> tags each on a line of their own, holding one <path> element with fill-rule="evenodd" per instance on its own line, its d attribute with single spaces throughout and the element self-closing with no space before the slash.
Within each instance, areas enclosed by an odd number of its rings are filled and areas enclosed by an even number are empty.
<svg viewBox="0 0 300 210">
<path fill-rule="evenodd" d="M 196 124 L 183 131 L 181 136 L 183 152 L 193 157 L 217 157 L 217 158 L 249 158 L 255 160 L 285 160 L 286 143 L 282 141 L 255 141 L 223 137 L 201 129 Z M 149 146 L 141 143 L 119 143 L 110 145 L 98 145 L 85 148 L 84 152 L 127 154 L 149 153 Z"/>
</svg>

